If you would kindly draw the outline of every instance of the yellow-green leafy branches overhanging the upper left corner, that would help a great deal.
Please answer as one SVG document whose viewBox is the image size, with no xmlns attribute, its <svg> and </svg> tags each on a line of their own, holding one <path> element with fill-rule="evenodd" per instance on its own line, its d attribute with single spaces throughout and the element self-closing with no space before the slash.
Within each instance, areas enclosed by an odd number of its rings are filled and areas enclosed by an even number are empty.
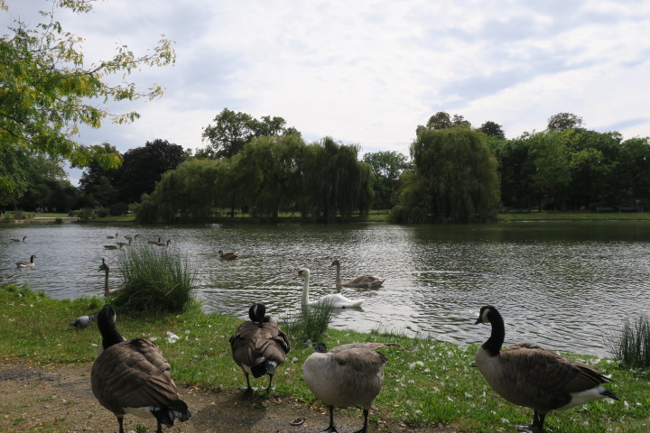
<svg viewBox="0 0 650 433">
<path fill-rule="evenodd" d="M 102 105 L 106 101 L 160 97 L 163 88 L 158 85 L 143 91 L 135 83 L 110 84 L 113 80 L 107 78 L 125 77 L 144 66 L 172 64 L 172 43 L 163 38 L 153 52 L 142 56 L 120 44 L 112 58 L 88 65 L 79 50 L 82 39 L 62 29 L 56 12 L 69 8 L 87 13 L 94 1 L 52 3 L 54 7 L 41 13 L 43 22 L 35 28 L 14 21 L 11 33 L 0 40 L 0 143 L 5 151 L 23 148 L 78 166 L 98 161 L 107 168 L 116 167 L 119 160 L 114 153 L 106 152 L 104 146 L 79 143 L 75 136 L 81 125 L 98 128 L 107 119 L 123 124 L 138 117 L 136 112 L 109 112 Z M 0 0 L 0 9 L 8 9 L 5 0 Z"/>
</svg>

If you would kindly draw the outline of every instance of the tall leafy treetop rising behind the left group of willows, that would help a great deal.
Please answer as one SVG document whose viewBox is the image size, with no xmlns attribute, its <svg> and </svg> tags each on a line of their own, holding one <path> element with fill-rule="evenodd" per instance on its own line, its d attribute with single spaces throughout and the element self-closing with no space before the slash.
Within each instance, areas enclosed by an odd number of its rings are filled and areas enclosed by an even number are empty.
<svg viewBox="0 0 650 433">
<path fill-rule="evenodd" d="M 200 156 L 232 158 L 254 138 L 300 134 L 295 128 L 287 127 L 282 117 L 265 115 L 258 120 L 252 115 L 236 113 L 228 108 L 224 108 L 213 122 L 203 129 L 203 140 L 209 146 L 200 151 Z"/>
</svg>

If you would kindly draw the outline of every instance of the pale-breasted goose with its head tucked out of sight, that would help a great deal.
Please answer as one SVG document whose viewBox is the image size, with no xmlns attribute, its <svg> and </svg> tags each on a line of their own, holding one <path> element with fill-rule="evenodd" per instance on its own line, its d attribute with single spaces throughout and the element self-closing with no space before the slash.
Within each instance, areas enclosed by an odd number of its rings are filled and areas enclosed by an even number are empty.
<svg viewBox="0 0 650 433">
<path fill-rule="evenodd" d="M 330 426 L 320 433 L 339 431 L 334 424 L 334 406 L 361 406 L 364 427 L 357 433 L 367 432 L 368 411 L 381 391 L 386 362 L 376 350 L 389 345 L 395 344 L 352 343 L 330 352 L 322 343 L 316 345 L 316 351 L 302 364 L 302 375 L 311 392 L 330 410 Z"/>
</svg>

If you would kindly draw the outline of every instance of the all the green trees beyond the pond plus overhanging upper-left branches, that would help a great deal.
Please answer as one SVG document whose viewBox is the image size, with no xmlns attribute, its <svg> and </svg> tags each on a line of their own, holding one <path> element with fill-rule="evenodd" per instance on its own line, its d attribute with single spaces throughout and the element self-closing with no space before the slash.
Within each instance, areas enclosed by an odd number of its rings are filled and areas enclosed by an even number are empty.
<svg viewBox="0 0 650 433">
<path fill-rule="evenodd" d="M 207 146 L 197 152 L 162 138 L 124 154 L 111 143 L 79 143 L 81 126 L 138 117 L 93 99 L 163 94 L 160 86 L 111 85 L 108 76 L 170 65 L 175 52 L 165 39 L 141 56 L 120 45 L 113 58 L 88 67 L 80 38 L 56 21 L 60 8 L 87 13 L 92 4 L 55 2 L 42 23 L 15 19 L 0 39 L 0 210 L 131 210 L 142 223 L 195 223 L 216 211 L 348 221 L 379 208 L 398 223 L 480 222 L 503 208 L 635 209 L 650 198 L 650 138 L 592 131 L 571 113 L 552 115 L 542 132 L 506 139 L 496 122 L 475 128 L 439 112 L 415 127 L 408 155 L 359 155 L 358 144 L 330 137 L 307 143 L 282 117 L 228 108 L 204 128 Z M 7 9 L 0 0 L 0 11 Z M 79 188 L 64 161 L 85 169 Z"/>
</svg>

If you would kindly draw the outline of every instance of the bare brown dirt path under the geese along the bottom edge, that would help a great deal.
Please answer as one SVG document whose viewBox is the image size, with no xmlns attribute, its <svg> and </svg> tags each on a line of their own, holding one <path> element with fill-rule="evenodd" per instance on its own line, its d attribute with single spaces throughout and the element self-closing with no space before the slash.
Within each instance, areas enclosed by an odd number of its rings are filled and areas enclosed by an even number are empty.
<svg viewBox="0 0 650 433">
<path fill-rule="evenodd" d="M 326 428 L 329 416 L 290 398 L 246 398 L 242 392 L 210 392 L 181 387 L 192 417 L 165 429 L 182 433 L 313 433 Z M 360 410 L 335 412 L 341 433 L 363 425 Z M 292 426 L 292 420 L 304 419 Z M 155 429 L 153 419 L 125 416 L 125 430 L 143 425 Z M 38 429 L 48 432 L 112 432 L 117 421 L 90 391 L 90 365 L 39 368 L 0 361 L 0 431 Z M 372 423 L 371 432 L 453 433 L 452 428 L 408 428 L 395 423 Z"/>
</svg>

